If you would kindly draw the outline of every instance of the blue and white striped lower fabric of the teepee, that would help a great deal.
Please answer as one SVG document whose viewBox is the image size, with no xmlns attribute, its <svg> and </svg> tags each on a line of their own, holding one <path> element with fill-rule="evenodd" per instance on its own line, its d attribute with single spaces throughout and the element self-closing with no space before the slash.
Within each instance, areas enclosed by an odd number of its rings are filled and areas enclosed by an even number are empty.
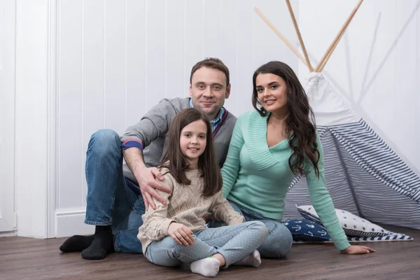
<svg viewBox="0 0 420 280">
<path fill-rule="evenodd" d="M 325 179 L 335 208 L 372 223 L 420 229 L 419 176 L 364 120 L 317 129 L 323 144 Z M 302 176 L 289 187 L 283 218 L 300 216 L 295 204 L 311 204 Z"/>
</svg>

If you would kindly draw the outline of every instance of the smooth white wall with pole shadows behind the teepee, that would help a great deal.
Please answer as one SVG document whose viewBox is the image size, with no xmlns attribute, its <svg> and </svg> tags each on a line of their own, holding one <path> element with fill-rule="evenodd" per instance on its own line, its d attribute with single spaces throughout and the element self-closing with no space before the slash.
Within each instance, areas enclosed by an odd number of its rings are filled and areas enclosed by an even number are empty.
<svg viewBox="0 0 420 280">
<path fill-rule="evenodd" d="M 299 25 L 313 62 L 321 59 L 357 2 L 299 1 Z M 308 70 L 299 63 L 304 80 Z M 420 174 L 420 0 L 363 1 L 324 74 Z"/>
</svg>

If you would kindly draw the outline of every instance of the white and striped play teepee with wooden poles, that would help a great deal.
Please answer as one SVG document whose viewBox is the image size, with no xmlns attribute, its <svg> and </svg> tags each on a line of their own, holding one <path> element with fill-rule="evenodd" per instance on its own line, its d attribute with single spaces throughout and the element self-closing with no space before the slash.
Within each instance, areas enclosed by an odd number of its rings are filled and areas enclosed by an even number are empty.
<svg viewBox="0 0 420 280">
<path fill-rule="evenodd" d="M 286 0 L 304 57 L 255 8 L 269 27 L 302 59 L 311 71 L 306 92 L 316 118 L 324 151 L 325 179 L 335 208 L 350 211 L 374 223 L 420 229 L 420 178 L 357 116 L 321 73 L 346 27 L 363 0 L 351 12 L 342 29 L 312 68 L 299 28 Z M 296 176 L 286 196 L 283 218 L 300 215 L 295 207 L 311 204 L 306 180 Z"/>
</svg>

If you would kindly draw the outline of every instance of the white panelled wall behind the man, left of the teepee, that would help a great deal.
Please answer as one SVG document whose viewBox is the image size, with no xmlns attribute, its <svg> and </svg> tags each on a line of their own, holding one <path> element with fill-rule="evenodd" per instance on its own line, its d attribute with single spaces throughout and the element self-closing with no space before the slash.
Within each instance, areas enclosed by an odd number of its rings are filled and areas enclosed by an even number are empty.
<svg viewBox="0 0 420 280">
<path fill-rule="evenodd" d="M 188 96 L 191 68 L 205 57 L 219 57 L 229 67 L 226 107 L 235 115 L 252 109 L 258 66 L 279 59 L 297 70 L 293 52 L 253 6 L 293 35 L 282 1 L 57 1 L 58 236 L 92 228 L 83 225 L 92 133 L 111 128 L 122 134 L 160 99 Z"/>
</svg>

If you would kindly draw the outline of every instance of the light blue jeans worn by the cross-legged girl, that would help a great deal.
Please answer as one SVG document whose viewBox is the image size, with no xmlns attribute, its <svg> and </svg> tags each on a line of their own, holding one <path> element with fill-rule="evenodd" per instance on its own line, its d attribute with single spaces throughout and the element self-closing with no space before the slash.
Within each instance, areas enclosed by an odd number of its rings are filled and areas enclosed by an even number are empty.
<svg viewBox="0 0 420 280">
<path fill-rule="evenodd" d="M 255 251 L 267 237 L 267 228 L 259 221 L 240 223 L 221 228 L 204 228 L 194 232 L 194 243 L 179 245 L 167 236 L 148 245 L 146 258 L 155 265 L 175 267 L 182 262 L 211 257 L 216 253 L 223 255 L 226 265 L 245 258 Z"/>
</svg>

